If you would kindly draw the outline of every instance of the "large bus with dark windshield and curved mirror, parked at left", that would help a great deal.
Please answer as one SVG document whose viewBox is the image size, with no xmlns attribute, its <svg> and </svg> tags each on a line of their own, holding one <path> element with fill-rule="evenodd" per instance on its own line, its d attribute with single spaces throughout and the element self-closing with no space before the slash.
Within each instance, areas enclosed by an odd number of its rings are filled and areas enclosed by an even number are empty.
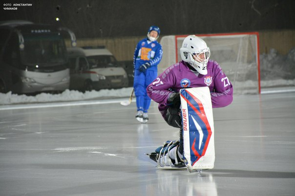
<svg viewBox="0 0 295 196">
<path fill-rule="evenodd" d="M 29 21 L 0 22 L 0 92 L 36 93 L 69 88 L 68 58 L 62 31 Z"/>
</svg>

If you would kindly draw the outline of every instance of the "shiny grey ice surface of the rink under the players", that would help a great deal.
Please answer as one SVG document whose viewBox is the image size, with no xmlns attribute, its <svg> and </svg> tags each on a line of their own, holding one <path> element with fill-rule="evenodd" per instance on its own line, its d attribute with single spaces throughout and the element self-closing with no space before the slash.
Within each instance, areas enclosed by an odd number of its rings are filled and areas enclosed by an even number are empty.
<svg viewBox="0 0 295 196">
<path fill-rule="evenodd" d="M 0 107 L 1 196 L 294 196 L 295 92 L 214 108 L 215 167 L 158 170 L 145 153 L 178 140 L 151 104 L 121 100 Z"/>
</svg>

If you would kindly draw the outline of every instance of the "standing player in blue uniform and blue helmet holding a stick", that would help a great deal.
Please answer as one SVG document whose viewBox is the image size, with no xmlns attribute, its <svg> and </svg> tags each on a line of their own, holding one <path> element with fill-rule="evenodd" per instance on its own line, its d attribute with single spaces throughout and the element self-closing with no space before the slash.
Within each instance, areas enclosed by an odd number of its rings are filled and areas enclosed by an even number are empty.
<svg viewBox="0 0 295 196">
<path fill-rule="evenodd" d="M 134 51 L 133 88 L 137 106 L 136 120 L 141 123 L 148 122 L 148 108 L 151 99 L 147 95 L 147 87 L 157 77 L 158 64 L 163 55 L 162 46 L 156 41 L 159 35 L 159 27 L 149 27 L 148 37 L 139 41 Z"/>
</svg>

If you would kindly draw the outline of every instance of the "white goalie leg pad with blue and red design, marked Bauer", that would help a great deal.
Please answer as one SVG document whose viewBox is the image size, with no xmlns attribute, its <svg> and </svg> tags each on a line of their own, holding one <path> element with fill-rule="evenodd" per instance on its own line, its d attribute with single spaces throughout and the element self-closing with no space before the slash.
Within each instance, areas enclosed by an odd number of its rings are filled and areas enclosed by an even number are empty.
<svg viewBox="0 0 295 196">
<path fill-rule="evenodd" d="M 208 87 L 181 89 L 184 160 L 189 171 L 214 167 L 214 125 Z"/>
</svg>

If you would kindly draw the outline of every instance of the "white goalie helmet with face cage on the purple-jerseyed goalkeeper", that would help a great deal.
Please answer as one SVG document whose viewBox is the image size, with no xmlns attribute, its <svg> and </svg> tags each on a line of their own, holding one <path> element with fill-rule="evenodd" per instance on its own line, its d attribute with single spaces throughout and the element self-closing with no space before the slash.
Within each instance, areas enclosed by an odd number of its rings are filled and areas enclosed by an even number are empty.
<svg viewBox="0 0 295 196">
<path fill-rule="evenodd" d="M 210 49 L 203 39 L 194 35 L 187 36 L 180 48 L 180 55 L 183 61 L 189 63 L 200 74 L 207 74 Z"/>
</svg>

